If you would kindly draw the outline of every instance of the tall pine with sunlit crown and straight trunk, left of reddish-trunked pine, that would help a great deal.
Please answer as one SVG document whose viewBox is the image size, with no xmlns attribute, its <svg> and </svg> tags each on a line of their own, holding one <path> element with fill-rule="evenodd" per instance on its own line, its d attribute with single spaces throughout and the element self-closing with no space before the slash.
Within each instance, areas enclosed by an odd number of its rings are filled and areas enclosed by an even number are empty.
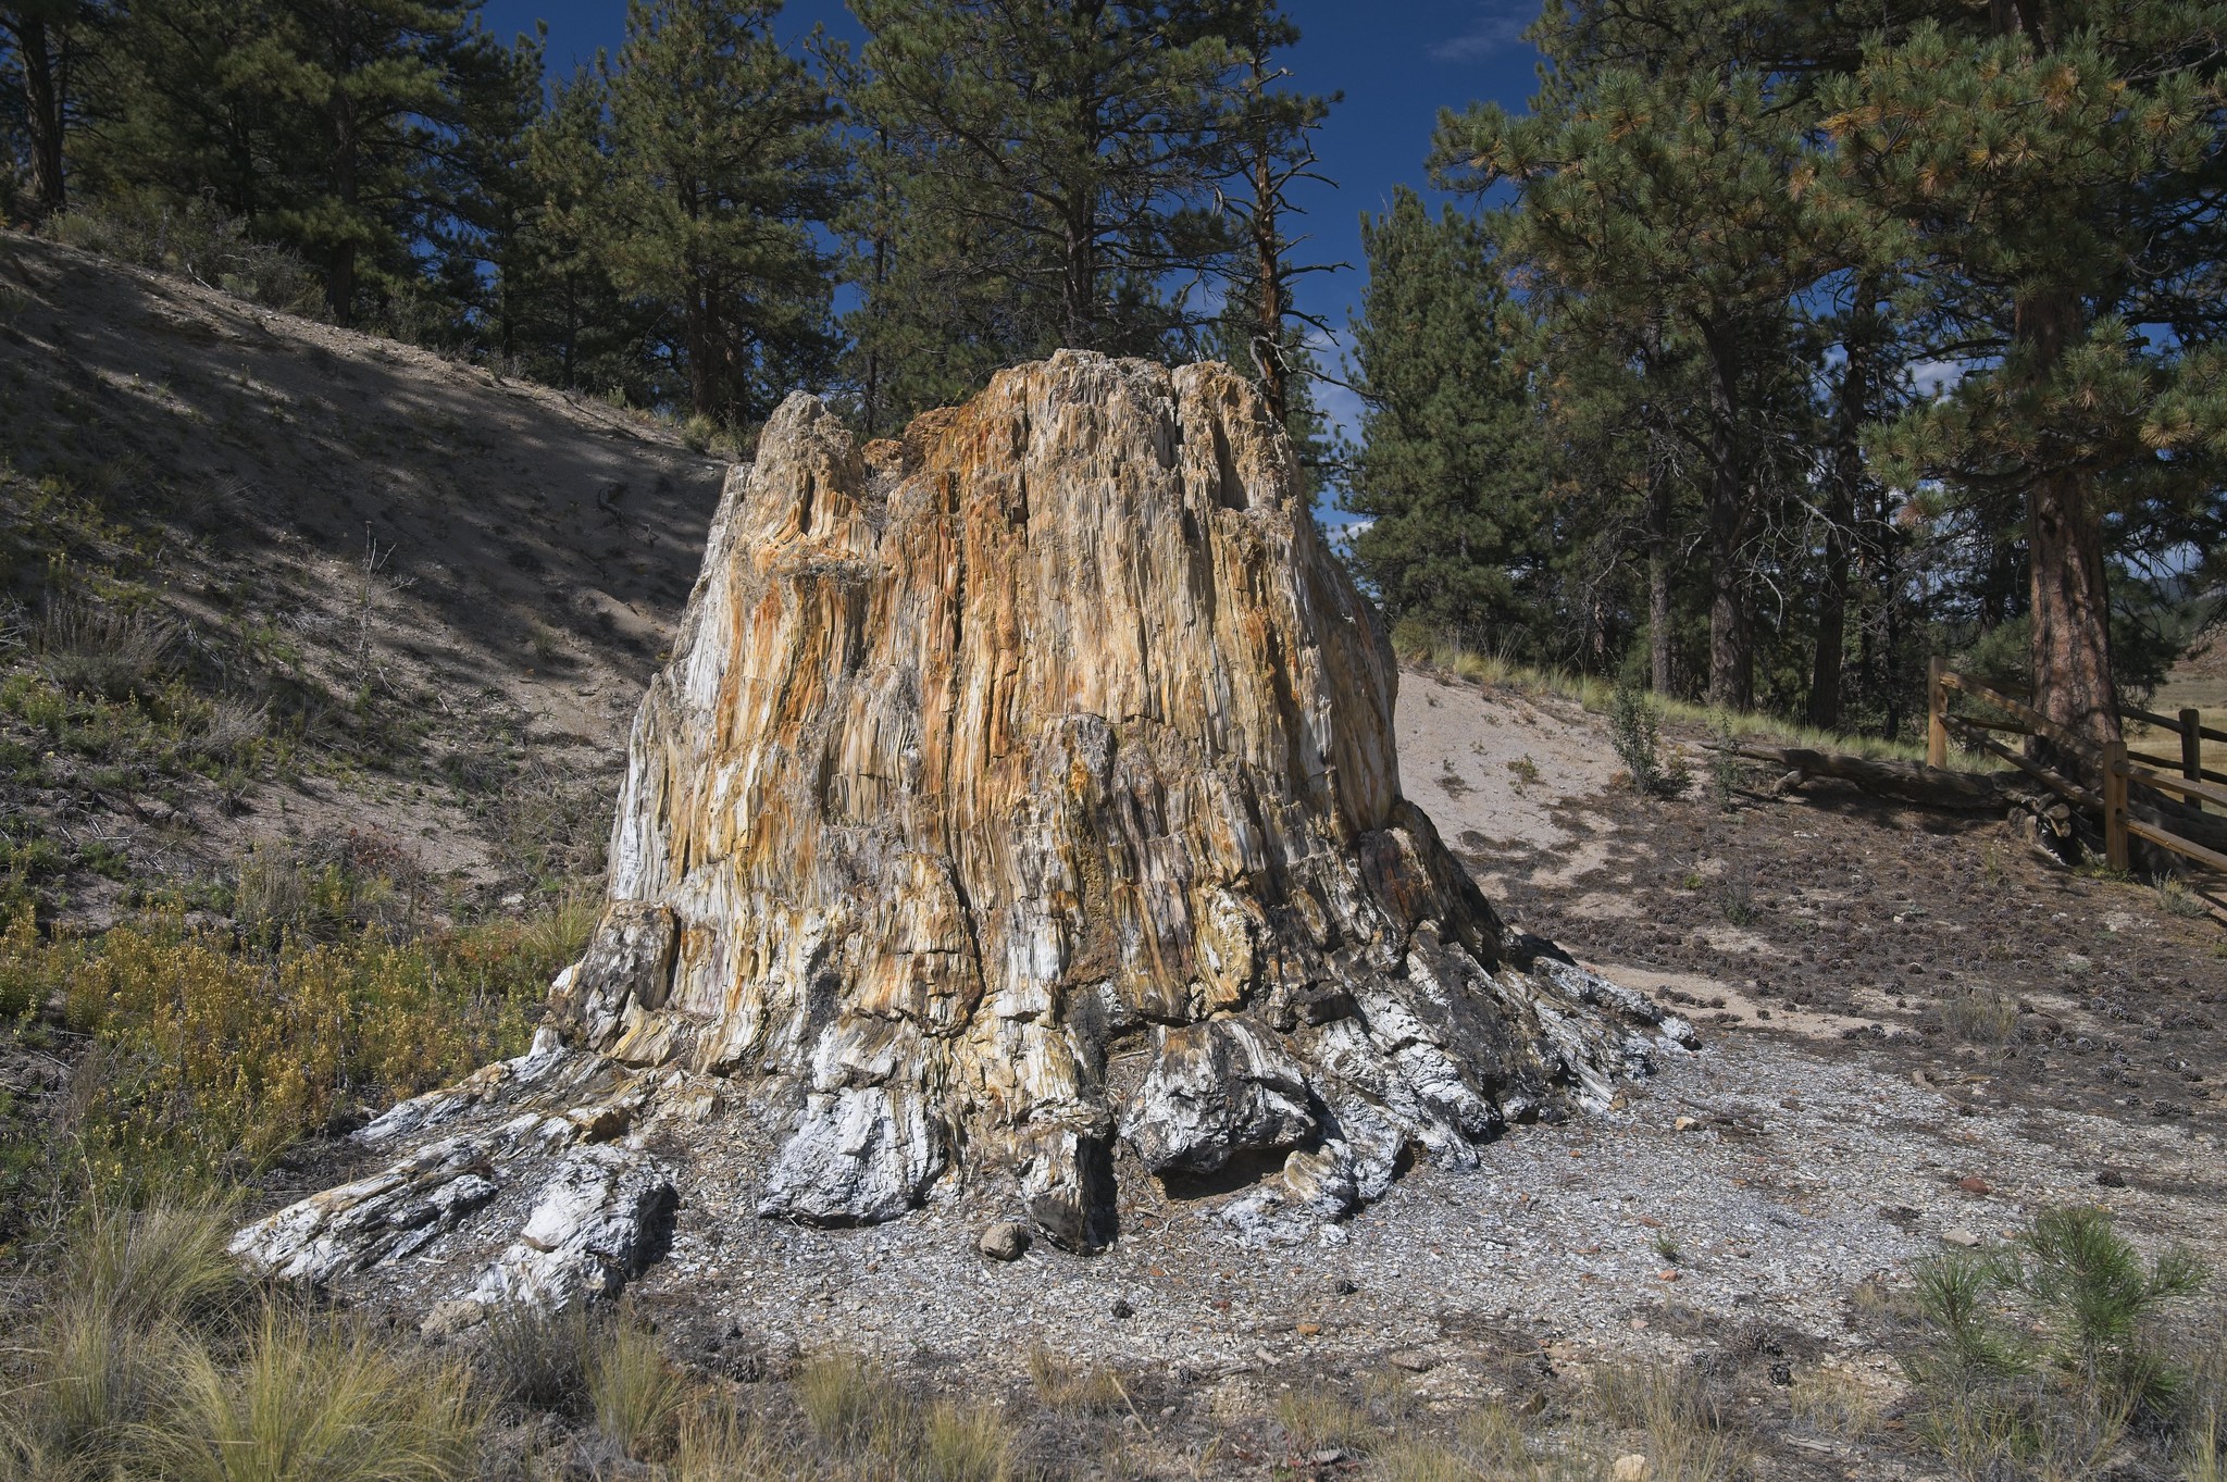
<svg viewBox="0 0 2227 1482">
<path fill-rule="evenodd" d="M 1797 191 L 1808 142 L 1784 109 L 1782 78 L 1739 62 L 1746 29 L 1715 24 L 1704 0 L 1657 0 L 1686 24 L 1688 56 L 1652 69 L 1557 53 L 1583 29 L 1550 13 L 1541 42 L 1561 67 L 1534 111 L 1497 105 L 1441 116 L 1441 182 L 1517 185 L 1508 249 L 1588 323 L 1630 343 L 1659 323 L 1706 367 L 1708 699 L 1755 699 L 1753 541 L 1766 514 L 1762 412 L 1782 387 L 1775 347 L 1788 303 L 1831 263 L 1833 231 Z"/>
</svg>

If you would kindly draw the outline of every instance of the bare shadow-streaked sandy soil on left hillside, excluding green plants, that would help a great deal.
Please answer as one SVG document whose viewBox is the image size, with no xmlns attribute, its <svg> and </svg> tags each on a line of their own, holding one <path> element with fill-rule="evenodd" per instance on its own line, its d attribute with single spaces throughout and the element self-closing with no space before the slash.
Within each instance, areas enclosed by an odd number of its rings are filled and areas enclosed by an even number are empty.
<svg viewBox="0 0 2227 1482">
<path fill-rule="evenodd" d="M 592 398 L 16 234 L 0 294 L 0 456 L 156 545 L 171 616 L 261 634 L 356 754 L 192 808 L 167 854 L 120 799 L 16 806 L 80 808 L 176 868 L 376 821 L 423 868 L 494 881 L 497 781 L 621 763 L 722 461 Z"/>
</svg>

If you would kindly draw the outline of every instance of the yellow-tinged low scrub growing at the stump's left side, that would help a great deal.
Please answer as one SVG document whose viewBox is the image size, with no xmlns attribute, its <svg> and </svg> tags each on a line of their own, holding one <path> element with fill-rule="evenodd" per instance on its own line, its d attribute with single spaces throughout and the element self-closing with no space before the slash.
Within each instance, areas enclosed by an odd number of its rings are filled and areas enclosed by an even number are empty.
<svg viewBox="0 0 2227 1482">
<path fill-rule="evenodd" d="M 0 1048 L 69 1057 L 67 1097 L 0 1099 L 0 1242 L 71 1197 L 209 1190 L 303 1137 L 517 1055 L 590 926 L 583 895 L 445 923 L 392 877 L 263 850 L 229 921 L 178 903 L 105 932 L 0 930 Z"/>
</svg>

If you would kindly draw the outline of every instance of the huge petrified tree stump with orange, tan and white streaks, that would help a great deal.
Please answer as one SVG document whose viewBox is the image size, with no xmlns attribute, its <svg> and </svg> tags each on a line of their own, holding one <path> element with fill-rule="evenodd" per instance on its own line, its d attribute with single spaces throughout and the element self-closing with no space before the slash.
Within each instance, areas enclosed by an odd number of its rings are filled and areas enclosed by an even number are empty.
<svg viewBox="0 0 2227 1482">
<path fill-rule="evenodd" d="M 332 1275 L 539 1182 L 474 1295 L 608 1291 L 686 1186 L 644 1130 L 719 1137 L 715 1106 L 782 1128 L 759 1215 L 989 1182 L 1093 1248 L 1116 1164 L 1330 1219 L 1603 1099 L 1686 1030 L 1510 939 L 1399 792 L 1394 679 L 1220 365 L 1062 352 L 864 449 L 793 396 L 641 701 L 537 1053 L 365 1128 L 414 1150 L 241 1248 Z"/>
</svg>

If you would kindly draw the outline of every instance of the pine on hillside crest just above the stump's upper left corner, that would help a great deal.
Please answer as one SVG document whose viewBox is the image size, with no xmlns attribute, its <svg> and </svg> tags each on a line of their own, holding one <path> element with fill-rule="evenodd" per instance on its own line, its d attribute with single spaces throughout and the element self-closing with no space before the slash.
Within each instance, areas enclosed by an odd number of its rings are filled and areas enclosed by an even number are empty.
<svg viewBox="0 0 2227 1482">
<path fill-rule="evenodd" d="M 666 309 L 668 365 L 706 418 L 746 423 L 835 356 L 815 227 L 848 180 L 835 105 L 773 38 L 779 0 L 632 0 L 604 67 L 595 209 L 621 292 Z"/>
</svg>

